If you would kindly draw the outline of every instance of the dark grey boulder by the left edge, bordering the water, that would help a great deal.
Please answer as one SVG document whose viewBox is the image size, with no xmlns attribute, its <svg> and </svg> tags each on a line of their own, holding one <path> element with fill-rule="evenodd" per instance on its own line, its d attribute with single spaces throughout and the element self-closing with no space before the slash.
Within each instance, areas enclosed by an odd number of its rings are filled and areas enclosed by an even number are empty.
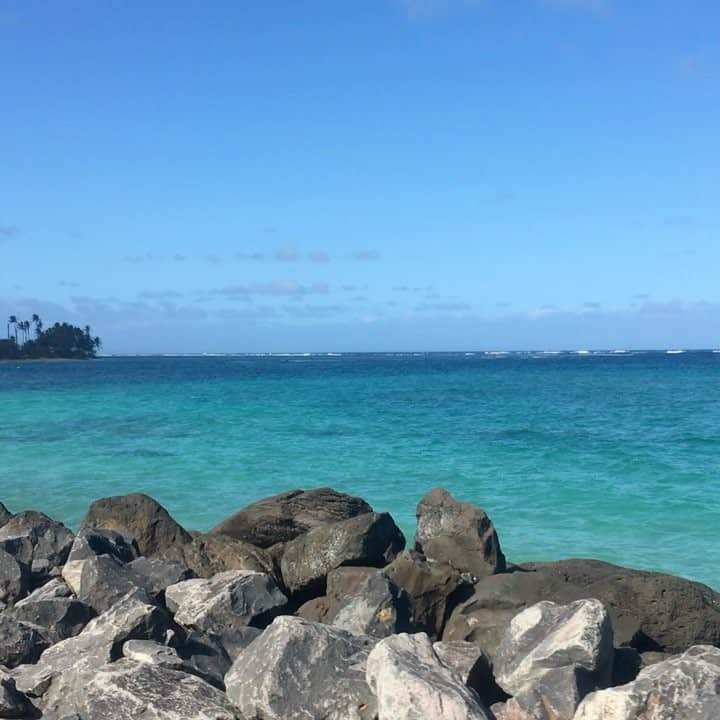
<svg viewBox="0 0 720 720">
<path fill-rule="evenodd" d="M 74 536 L 62 523 L 28 510 L 13 515 L 0 527 L 0 542 L 18 538 L 26 539 L 32 546 L 32 558 L 27 564 L 33 579 L 42 583 L 65 563 Z"/>
</svg>

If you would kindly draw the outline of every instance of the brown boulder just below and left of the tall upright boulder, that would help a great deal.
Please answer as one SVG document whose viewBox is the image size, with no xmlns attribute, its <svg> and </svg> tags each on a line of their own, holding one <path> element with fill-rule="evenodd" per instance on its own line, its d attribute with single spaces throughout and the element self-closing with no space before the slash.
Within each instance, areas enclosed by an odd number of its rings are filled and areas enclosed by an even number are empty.
<svg viewBox="0 0 720 720">
<path fill-rule="evenodd" d="M 466 575 L 415 551 L 400 553 L 384 572 L 410 596 L 415 626 L 431 638 L 442 636 L 450 612 L 472 594 Z"/>
</svg>

